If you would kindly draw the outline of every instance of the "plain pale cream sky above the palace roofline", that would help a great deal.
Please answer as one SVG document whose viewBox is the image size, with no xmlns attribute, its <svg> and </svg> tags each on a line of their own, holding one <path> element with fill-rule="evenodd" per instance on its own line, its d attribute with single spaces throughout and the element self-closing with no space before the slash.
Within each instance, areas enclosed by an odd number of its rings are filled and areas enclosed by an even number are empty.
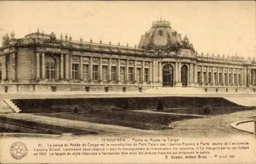
<svg viewBox="0 0 256 164">
<path fill-rule="evenodd" d="M 1 1 L 0 36 L 66 33 L 73 40 L 138 45 L 152 21 L 170 21 L 198 53 L 256 57 L 254 1 Z M 2 42 L 2 41 L 1 41 Z"/>
</svg>

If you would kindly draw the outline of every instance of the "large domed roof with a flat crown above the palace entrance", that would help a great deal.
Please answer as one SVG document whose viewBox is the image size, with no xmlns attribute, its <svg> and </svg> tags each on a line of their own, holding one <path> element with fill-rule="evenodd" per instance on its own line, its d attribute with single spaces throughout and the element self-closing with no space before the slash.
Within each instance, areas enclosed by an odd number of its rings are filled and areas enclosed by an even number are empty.
<svg viewBox="0 0 256 164">
<path fill-rule="evenodd" d="M 141 35 L 138 47 L 155 50 L 175 50 L 183 45 L 180 34 L 170 27 L 165 20 L 152 22 L 152 28 Z"/>
</svg>

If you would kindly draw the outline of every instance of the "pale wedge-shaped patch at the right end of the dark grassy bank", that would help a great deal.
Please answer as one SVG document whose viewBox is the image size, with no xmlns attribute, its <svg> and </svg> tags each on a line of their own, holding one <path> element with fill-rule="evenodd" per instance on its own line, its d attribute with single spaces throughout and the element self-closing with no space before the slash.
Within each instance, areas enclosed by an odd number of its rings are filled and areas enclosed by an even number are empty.
<svg viewBox="0 0 256 164">
<path fill-rule="evenodd" d="M 256 97 L 224 97 L 224 98 L 238 105 L 256 107 Z"/>
</svg>

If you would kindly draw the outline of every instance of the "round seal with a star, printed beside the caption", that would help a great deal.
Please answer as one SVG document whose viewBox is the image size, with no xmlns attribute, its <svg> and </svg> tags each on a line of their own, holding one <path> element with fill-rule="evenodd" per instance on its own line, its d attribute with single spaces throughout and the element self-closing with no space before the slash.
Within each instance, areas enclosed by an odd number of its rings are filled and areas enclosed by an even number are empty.
<svg viewBox="0 0 256 164">
<path fill-rule="evenodd" d="M 15 142 L 10 148 L 10 154 L 14 159 L 22 159 L 28 154 L 28 148 L 23 142 Z"/>
</svg>

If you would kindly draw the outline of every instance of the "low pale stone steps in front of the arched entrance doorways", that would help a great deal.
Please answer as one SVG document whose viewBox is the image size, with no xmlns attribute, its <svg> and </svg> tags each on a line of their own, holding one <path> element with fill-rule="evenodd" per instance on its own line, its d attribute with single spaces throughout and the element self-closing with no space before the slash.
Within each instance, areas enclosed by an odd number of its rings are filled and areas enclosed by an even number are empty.
<svg viewBox="0 0 256 164">
<path fill-rule="evenodd" d="M 189 87 L 158 87 L 143 91 L 146 94 L 205 94 L 198 88 Z"/>
</svg>

